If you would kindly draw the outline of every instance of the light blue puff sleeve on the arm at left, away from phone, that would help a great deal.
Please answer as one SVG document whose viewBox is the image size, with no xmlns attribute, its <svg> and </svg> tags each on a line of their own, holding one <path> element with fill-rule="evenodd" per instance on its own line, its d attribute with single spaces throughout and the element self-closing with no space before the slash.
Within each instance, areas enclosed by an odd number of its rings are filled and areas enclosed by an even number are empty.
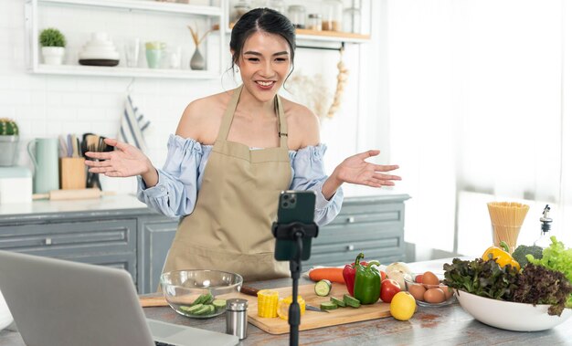
<svg viewBox="0 0 572 346">
<path fill-rule="evenodd" d="M 147 188 L 138 177 L 137 198 L 163 215 L 175 217 L 189 215 L 195 209 L 196 194 L 200 189 L 202 173 L 212 148 L 193 139 L 170 135 L 167 159 L 158 169 L 159 182 Z"/>
</svg>

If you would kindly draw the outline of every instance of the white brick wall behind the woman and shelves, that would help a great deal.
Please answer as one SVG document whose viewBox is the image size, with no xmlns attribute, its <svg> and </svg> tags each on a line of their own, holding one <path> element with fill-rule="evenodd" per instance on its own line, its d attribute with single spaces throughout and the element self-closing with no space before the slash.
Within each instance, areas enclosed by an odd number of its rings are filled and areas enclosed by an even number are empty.
<svg viewBox="0 0 572 346">
<path fill-rule="evenodd" d="M 18 122 L 21 131 L 18 164 L 30 166 L 25 148 L 33 138 L 57 137 L 67 133 L 81 135 L 84 132 L 115 137 L 119 130 L 125 91 L 132 79 L 28 73 L 25 66 L 23 6 L 23 0 L 0 1 L 0 117 L 15 118 Z M 123 30 L 125 23 L 122 23 L 124 16 L 121 14 L 94 14 L 85 21 L 78 21 L 65 11 L 61 14 L 52 11 L 50 15 L 54 16 L 52 20 L 55 26 L 68 37 L 68 63 L 77 64 L 73 61 L 77 57 L 75 54 L 89 38 L 89 33 L 95 31 L 94 28 L 110 32 L 116 42 L 122 42 L 124 37 L 136 32 L 135 29 L 128 32 Z M 141 20 L 153 19 L 145 16 Z M 44 27 L 43 23 L 40 21 L 40 29 Z M 160 39 L 160 34 L 151 28 L 136 33 L 140 37 L 146 35 Z M 183 54 L 183 61 L 188 61 L 192 48 L 190 35 L 185 30 L 180 35 L 178 39 L 189 42 Z M 355 49 L 354 54 L 352 49 Z M 358 71 L 355 66 L 359 60 L 356 52 L 357 47 L 347 48 L 345 64 L 351 73 Z M 334 90 L 337 61 L 338 56 L 334 51 L 300 49 L 297 51 L 296 67 L 312 74 L 322 71 L 328 80 L 325 87 Z M 327 129 L 327 132 L 323 131 L 323 142 L 330 148 L 326 157 L 328 171 L 334 169 L 335 164 L 345 156 L 355 152 L 357 95 L 351 90 L 356 89 L 357 77 L 352 75 L 352 80 L 347 87 L 350 91 L 344 97 L 343 110 L 334 120 L 323 121 L 323 128 Z M 152 121 L 145 136 L 148 154 L 156 166 L 164 163 L 167 137 L 175 131 L 185 106 L 198 97 L 231 87 L 228 76 L 214 80 L 134 79 L 132 98 L 147 119 Z M 129 181 L 102 179 L 104 189 L 118 193 L 135 191 L 133 180 Z"/>
</svg>

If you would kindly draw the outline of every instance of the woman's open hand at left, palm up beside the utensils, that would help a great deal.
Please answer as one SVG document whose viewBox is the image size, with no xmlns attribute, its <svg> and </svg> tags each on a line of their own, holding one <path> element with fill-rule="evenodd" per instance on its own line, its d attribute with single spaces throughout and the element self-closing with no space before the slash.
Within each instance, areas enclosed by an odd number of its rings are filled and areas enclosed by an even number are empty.
<svg viewBox="0 0 572 346">
<path fill-rule="evenodd" d="M 99 161 L 86 160 L 85 164 L 90 167 L 90 173 L 102 173 L 107 176 L 127 177 L 134 175 L 142 175 L 143 180 L 148 186 L 154 186 L 156 182 L 148 182 L 145 176 L 151 181 L 154 175 L 157 175 L 151 160 L 136 147 L 106 138 L 105 143 L 115 148 L 113 152 L 86 152 L 85 155 L 91 159 Z M 156 177 L 158 180 L 158 176 Z"/>
</svg>

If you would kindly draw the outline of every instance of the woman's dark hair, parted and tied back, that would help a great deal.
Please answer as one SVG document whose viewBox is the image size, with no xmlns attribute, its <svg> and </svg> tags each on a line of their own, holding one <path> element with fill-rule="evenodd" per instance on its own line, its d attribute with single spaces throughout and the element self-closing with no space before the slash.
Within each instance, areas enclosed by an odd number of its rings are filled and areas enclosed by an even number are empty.
<svg viewBox="0 0 572 346">
<path fill-rule="evenodd" d="M 290 46 L 292 69 L 294 67 L 294 49 L 296 49 L 296 30 L 290 19 L 270 8 L 255 8 L 242 15 L 230 34 L 230 49 L 234 52 L 232 62 L 238 65 L 244 43 L 255 32 L 266 32 L 284 37 Z"/>
</svg>

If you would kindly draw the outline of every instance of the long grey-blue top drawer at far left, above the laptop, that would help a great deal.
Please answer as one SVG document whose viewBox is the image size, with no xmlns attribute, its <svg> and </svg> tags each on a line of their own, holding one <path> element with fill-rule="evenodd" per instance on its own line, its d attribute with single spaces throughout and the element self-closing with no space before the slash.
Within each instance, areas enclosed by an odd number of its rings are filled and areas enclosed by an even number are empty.
<svg viewBox="0 0 572 346">
<path fill-rule="evenodd" d="M 135 251 L 134 219 L 3 227 L 0 248 L 42 256 Z"/>
</svg>

